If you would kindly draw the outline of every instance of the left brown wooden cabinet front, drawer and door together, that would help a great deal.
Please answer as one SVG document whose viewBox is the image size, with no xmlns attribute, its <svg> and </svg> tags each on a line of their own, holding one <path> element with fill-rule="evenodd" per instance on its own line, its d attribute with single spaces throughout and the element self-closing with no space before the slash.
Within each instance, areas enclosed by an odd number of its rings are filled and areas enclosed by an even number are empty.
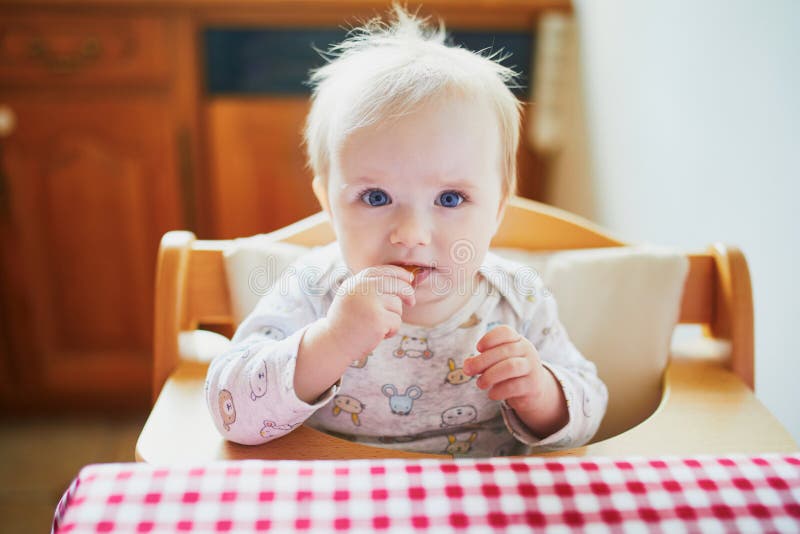
<svg viewBox="0 0 800 534">
<path fill-rule="evenodd" d="M 146 406 L 154 259 L 181 228 L 157 18 L 2 19 L 4 383 L 16 410 Z"/>
</svg>

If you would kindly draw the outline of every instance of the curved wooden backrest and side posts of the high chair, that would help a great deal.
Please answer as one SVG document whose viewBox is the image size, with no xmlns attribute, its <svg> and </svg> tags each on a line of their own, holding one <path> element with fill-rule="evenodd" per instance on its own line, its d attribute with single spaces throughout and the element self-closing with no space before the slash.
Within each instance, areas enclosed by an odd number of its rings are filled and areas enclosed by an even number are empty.
<svg viewBox="0 0 800 534">
<path fill-rule="evenodd" d="M 275 241 L 305 246 L 335 239 L 322 213 L 268 235 Z M 155 298 L 153 401 L 178 365 L 181 332 L 234 322 L 223 259 L 223 251 L 230 246 L 230 241 L 195 240 L 190 232 L 169 232 L 161 242 Z M 519 197 L 510 201 L 492 241 L 492 247 L 535 251 L 623 246 L 626 243 L 589 221 Z M 745 258 L 739 250 L 723 245 L 713 245 L 706 252 L 687 257 L 689 272 L 679 321 L 704 325 L 707 335 L 726 340 L 730 345 L 728 367 L 752 389 L 753 307 Z"/>
</svg>

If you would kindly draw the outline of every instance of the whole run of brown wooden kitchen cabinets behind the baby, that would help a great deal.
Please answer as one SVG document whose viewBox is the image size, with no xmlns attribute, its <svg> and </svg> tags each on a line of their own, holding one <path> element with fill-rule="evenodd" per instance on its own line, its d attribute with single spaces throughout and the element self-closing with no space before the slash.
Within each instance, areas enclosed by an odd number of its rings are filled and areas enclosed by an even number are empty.
<svg viewBox="0 0 800 534">
<path fill-rule="evenodd" d="M 271 75 L 277 90 L 217 91 L 206 33 L 297 43 L 388 5 L 0 0 L 0 123 L 3 109 L 15 117 L 0 134 L 0 409 L 146 407 L 161 235 L 249 235 L 318 210 L 301 146 L 308 95 L 284 90 L 307 68 L 256 61 L 254 79 Z M 537 14 L 568 2 L 424 5 L 464 38 L 510 31 L 532 44 Z M 290 56 L 282 42 L 266 50 Z M 541 166 L 521 150 L 523 195 L 537 198 Z"/>
</svg>

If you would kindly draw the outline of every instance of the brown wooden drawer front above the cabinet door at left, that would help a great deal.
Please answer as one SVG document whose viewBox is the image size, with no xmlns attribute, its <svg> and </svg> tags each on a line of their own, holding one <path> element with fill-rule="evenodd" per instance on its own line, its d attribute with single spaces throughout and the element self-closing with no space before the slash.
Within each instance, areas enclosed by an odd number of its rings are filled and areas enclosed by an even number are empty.
<svg viewBox="0 0 800 534">
<path fill-rule="evenodd" d="M 153 17 L 3 14 L 2 85 L 163 82 L 167 28 Z"/>
</svg>

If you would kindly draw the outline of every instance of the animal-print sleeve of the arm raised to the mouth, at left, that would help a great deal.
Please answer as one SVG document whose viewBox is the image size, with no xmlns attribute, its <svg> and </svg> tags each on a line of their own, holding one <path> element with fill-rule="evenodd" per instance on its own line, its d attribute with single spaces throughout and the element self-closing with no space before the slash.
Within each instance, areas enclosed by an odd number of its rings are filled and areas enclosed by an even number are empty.
<svg viewBox="0 0 800 534">
<path fill-rule="evenodd" d="M 206 402 L 226 439 L 264 443 L 300 425 L 336 392 L 333 386 L 315 404 L 294 391 L 300 342 L 308 326 L 324 315 L 319 295 L 291 269 L 262 297 L 242 322 L 232 348 L 208 370 Z"/>
</svg>

